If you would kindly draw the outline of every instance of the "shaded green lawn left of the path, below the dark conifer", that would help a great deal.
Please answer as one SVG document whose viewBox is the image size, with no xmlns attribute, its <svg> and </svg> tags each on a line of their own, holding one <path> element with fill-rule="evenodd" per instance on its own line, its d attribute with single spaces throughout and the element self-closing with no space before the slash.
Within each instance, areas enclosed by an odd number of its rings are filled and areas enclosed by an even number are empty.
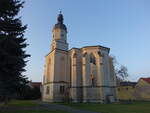
<svg viewBox="0 0 150 113">
<path fill-rule="evenodd" d="M 0 105 L 0 113 L 66 113 L 60 110 L 49 110 L 36 101 L 13 100 L 7 106 Z"/>
</svg>

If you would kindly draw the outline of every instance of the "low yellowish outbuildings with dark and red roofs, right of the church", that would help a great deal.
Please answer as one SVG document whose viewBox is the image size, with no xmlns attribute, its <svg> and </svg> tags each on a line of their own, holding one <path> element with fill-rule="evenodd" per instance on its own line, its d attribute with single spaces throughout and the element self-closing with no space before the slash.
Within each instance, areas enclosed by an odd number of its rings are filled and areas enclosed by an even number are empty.
<svg viewBox="0 0 150 113">
<path fill-rule="evenodd" d="M 121 82 L 117 87 L 119 100 L 150 100 L 150 78 L 140 78 L 138 82 Z"/>
</svg>

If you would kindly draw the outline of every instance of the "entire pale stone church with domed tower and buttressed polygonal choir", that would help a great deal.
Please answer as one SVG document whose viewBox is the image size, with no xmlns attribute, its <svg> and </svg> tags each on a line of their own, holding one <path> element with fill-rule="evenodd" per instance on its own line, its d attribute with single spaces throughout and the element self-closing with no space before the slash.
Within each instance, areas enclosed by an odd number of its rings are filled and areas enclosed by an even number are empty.
<svg viewBox="0 0 150 113">
<path fill-rule="evenodd" d="M 63 15 L 52 30 L 51 51 L 45 57 L 42 100 L 48 102 L 113 102 L 116 77 L 110 49 L 86 46 L 68 49 Z"/>
</svg>

